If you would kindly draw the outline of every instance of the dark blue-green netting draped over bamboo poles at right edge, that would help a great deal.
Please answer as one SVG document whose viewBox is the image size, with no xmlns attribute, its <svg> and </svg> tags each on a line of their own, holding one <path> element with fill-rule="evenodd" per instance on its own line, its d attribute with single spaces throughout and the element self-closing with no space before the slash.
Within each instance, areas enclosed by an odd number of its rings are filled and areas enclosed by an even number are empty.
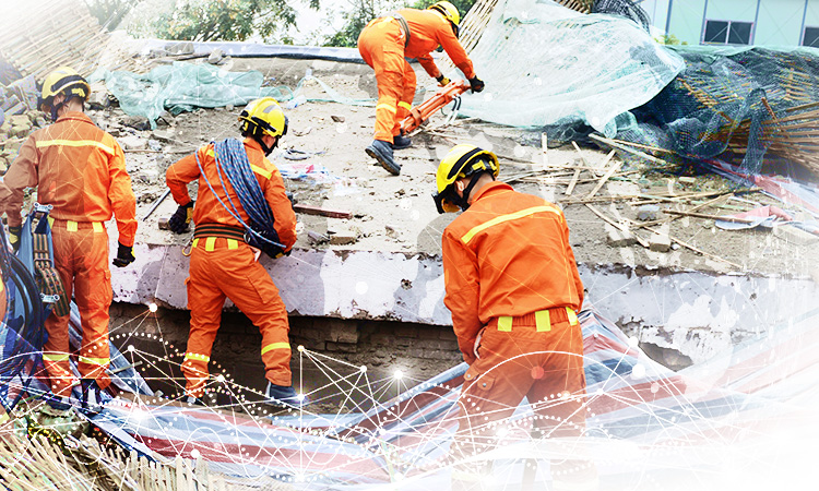
<svg viewBox="0 0 819 491">
<path fill-rule="evenodd" d="M 758 173 L 773 156 L 819 172 L 819 50 L 675 47 L 686 69 L 636 109 L 618 137 L 693 159 L 717 155 Z M 727 151 L 727 153 L 726 153 Z M 725 153 L 725 154 L 724 154 Z"/>
</svg>

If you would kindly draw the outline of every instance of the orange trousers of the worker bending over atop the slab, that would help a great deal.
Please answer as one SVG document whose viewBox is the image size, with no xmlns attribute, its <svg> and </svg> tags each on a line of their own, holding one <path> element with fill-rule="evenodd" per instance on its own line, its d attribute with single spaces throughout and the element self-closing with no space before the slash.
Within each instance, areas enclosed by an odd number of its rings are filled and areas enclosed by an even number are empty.
<svg viewBox="0 0 819 491">
<path fill-rule="evenodd" d="M 399 103 L 412 104 L 416 83 L 415 71 L 404 59 L 404 34 L 397 21 L 371 22 L 358 36 L 358 52 L 376 71 L 378 104 L 373 137 L 392 143 L 401 127 L 401 115 L 408 113 Z"/>
</svg>

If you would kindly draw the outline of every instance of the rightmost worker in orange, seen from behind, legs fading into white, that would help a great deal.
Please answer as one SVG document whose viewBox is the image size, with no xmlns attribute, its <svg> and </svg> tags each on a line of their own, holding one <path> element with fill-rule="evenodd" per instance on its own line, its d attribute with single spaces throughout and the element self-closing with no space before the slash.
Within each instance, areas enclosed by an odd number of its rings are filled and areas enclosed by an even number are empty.
<svg viewBox="0 0 819 491">
<path fill-rule="evenodd" d="M 583 304 L 569 228 L 542 197 L 495 180 L 498 158 L 456 145 L 437 171 L 439 213 L 461 213 L 443 231 L 444 304 L 470 364 L 459 405 L 454 458 L 491 442 L 499 420 L 527 398 L 535 434 L 575 438 L 585 426 Z M 581 460 L 553 462 L 553 489 L 594 489 Z M 455 465 L 453 489 L 482 489 L 486 468 Z M 590 488 L 574 488 L 589 484 Z"/>
</svg>

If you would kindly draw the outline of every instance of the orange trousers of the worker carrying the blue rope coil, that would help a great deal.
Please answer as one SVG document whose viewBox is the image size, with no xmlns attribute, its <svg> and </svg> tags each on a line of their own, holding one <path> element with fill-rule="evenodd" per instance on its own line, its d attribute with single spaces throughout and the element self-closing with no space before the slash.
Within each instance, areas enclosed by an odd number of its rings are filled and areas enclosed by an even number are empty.
<svg viewBox="0 0 819 491">
<path fill-rule="evenodd" d="M 264 266 L 253 260 L 244 242 L 229 249 L 227 239 L 217 238 L 212 251 L 194 248 L 190 256 L 188 308 L 191 311 L 190 335 L 182 373 L 189 395 L 200 397 L 207 379 L 207 361 L 222 321 L 225 298 L 229 298 L 262 334 L 264 376 L 276 385 L 289 386 L 290 349 L 287 310 L 278 289 Z M 285 348 L 286 346 L 286 348 Z"/>
</svg>

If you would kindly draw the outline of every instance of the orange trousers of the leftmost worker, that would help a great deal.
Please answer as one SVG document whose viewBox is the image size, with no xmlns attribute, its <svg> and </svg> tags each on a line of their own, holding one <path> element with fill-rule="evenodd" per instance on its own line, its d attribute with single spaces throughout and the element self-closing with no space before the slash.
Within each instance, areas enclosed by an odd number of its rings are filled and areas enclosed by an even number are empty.
<svg viewBox="0 0 819 491">
<path fill-rule="evenodd" d="M 66 295 L 73 291 L 82 324 L 82 344 L 78 369 L 83 379 L 95 379 L 100 388 L 110 384 L 105 373 L 110 363 L 108 350 L 108 309 L 111 306 L 111 273 L 108 270 L 108 233 L 91 221 L 56 219 L 51 225 L 55 268 Z M 69 396 L 73 375 L 69 364 L 68 315 L 46 319 L 48 340 L 43 351 L 51 391 Z"/>
</svg>

